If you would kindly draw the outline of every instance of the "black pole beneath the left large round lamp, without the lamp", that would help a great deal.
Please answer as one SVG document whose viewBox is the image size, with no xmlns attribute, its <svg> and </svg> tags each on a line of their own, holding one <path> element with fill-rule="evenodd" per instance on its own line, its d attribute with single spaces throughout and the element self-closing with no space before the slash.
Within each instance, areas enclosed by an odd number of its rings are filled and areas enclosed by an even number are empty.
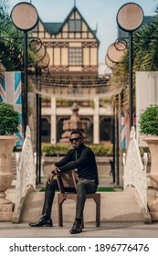
<svg viewBox="0 0 158 256">
<path fill-rule="evenodd" d="M 27 31 L 24 31 L 24 109 L 23 109 L 23 123 L 24 123 L 24 138 L 26 137 L 27 125 Z"/>
</svg>

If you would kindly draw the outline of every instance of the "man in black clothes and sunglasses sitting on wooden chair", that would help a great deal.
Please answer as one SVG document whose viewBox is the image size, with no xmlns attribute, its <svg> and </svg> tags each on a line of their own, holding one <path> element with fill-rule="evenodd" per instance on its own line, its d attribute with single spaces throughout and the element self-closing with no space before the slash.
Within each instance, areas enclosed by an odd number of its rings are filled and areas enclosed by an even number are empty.
<svg viewBox="0 0 158 256">
<path fill-rule="evenodd" d="M 68 170 L 76 169 L 79 182 L 77 184 L 77 205 L 76 217 L 71 234 L 76 234 L 82 231 L 81 220 L 82 213 L 86 201 L 86 194 L 95 193 L 99 184 L 97 164 L 95 155 L 90 147 L 83 143 L 82 134 L 79 131 L 70 133 L 69 139 L 72 148 L 70 149 L 58 163 L 52 165 L 52 172 L 47 177 L 45 201 L 42 211 L 42 218 L 35 223 L 29 223 L 31 227 L 52 227 L 51 208 L 55 196 L 55 190 L 58 189 L 57 179 L 53 179 L 58 172 L 67 172 Z M 68 188 L 67 192 L 72 192 L 74 188 Z"/>
</svg>

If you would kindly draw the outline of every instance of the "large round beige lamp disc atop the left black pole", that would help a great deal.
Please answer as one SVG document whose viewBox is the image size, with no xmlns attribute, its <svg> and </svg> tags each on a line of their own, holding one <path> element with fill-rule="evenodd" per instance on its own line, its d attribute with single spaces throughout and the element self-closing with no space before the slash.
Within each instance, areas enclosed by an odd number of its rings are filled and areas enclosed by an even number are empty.
<svg viewBox="0 0 158 256">
<path fill-rule="evenodd" d="M 11 12 L 14 25 L 20 30 L 31 30 L 37 26 L 38 15 L 34 5 L 26 2 L 15 5 Z"/>
</svg>

